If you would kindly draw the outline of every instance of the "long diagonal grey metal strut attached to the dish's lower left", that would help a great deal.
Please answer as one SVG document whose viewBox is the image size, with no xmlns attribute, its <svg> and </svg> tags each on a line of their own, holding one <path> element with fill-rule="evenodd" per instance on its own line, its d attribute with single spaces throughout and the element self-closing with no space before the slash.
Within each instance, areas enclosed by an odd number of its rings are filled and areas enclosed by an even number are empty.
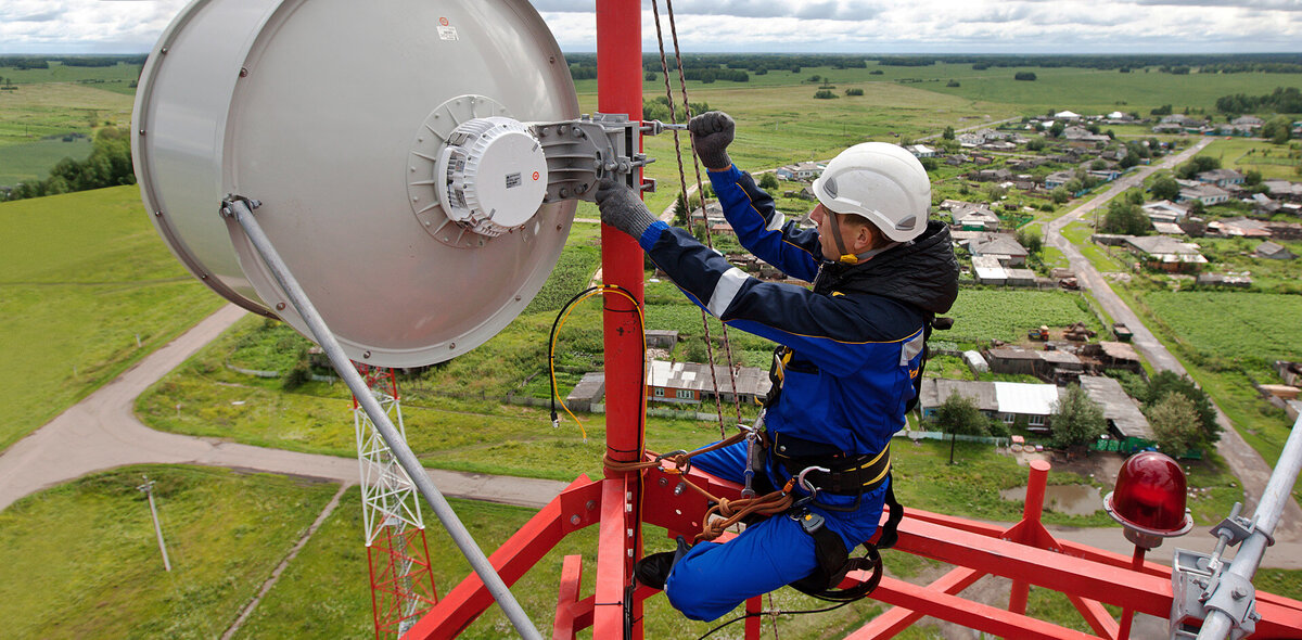
<svg viewBox="0 0 1302 640">
<path fill-rule="evenodd" d="M 415 484 L 417 490 L 424 497 L 426 502 L 430 503 L 430 509 L 434 509 L 435 515 L 439 516 L 439 522 L 443 527 L 448 529 L 448 535 L 452 536 L 452 541 L 457 544 L 461 549 L 462 555 L 470 561 L 470 566 L 483 580 L 484 587 L 488 588 L 488 593 L 492 594 L 497 605 L 501 606 L 506 618 L 516 627 L 516 632 L 521 637 L 529 640 L 542 640 L 538 633 L 538 627 L 529 620 L 529 615 L 521 609 L 519 602 L 512 596 L 510 589 L 506 588 L 506 583 L 503 581 L 501 576 L 484 557 L 483 550 L 475 544 L 470 532 L 466 531 L 465 524 L 457 518 L 457 514 L 452 510 L 452 505 L 448 500 L 443 497 L 443 493 L 434 485 L 434 480 L 421 466 L 421 460 L 411 453 L 411 447 L 408 446 L 406 440 L 398 433 L 397 428 L 389 420 L 389 416 L 384 412 L 384 407 L 380 406 L 375 395 L 371 394 L 370 388 L 362 376 L 353 367 L 353 362 L 344 354 L 344 347 L 339 345 L 335 334 L 329 330 L 326 320 L 322 319 L 320 313 L 316 312 L 316 307 L 307 298 L 302 286 L 298 285 L 298 280 L 289 271 L 289 267 L 281 260 L 280 254 L 276 247 L 271 243 L 271 239 L 262 230 L 262 225 L 254 217 L 253 211 L 241 199 L 232 199 L 223 203 L 221 212 L 227 216 L 233 217 L 240 226 L 243 228 L 245 234 L 253 243 L 254 248 L 258 250 L 258 255 L 262 256 L 263 263 L 271 269 L 272 276 L 276 277 L 276 282 L 284 289 L 285 295 L 289 297 L 289 302 L 302 316 L 303 321 L 307 323 L 307 328 L 312 332 L 316 338 L 316 343 L 320 345 L 322 350 L 329 358 L 331 366 L 335 367 L 335 372 L 339 373 L 344 384 L 348 385 L 349 390 L 353 392 L 353 397 L 366 411 L 366 415 L 371 416 L 371 421 L 375 424 L 375 431 L 380 433 L 384 442 L 389 445 L 389 450 L 393 451 L 393 457 L 397 458 L 398 464 L 406 471 L 411 483 Z"/>
</svg>

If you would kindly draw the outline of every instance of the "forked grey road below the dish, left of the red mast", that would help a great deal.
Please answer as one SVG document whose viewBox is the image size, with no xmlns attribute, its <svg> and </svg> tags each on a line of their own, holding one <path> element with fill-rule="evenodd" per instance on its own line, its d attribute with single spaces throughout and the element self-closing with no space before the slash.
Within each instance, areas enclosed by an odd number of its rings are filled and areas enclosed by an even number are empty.
<svg viewBox="0 0 1302 640">
<path fill-rule="evenodd" d="M 141 360 L 0 454 L 0 510 L 16 500 L 86 473 L 125 464 L 204 464 L 355 484 L 357 459 L 154 431 L 135 418 L 135 397 L 242 317 L 230 304 Z M 348 416 L 340 415 L 340 420 Z M 565 483 L 430 471 L 449 497 L 542 507 Z"/>
</svg>

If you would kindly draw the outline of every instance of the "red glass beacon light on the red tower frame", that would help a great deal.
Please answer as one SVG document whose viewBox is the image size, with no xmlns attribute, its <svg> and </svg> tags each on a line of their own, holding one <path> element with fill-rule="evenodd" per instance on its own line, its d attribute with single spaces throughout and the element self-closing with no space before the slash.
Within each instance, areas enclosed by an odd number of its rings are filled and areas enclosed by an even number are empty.
<svg viewBox="0 0 1302 640">
<path fill-rule="evenodd" d="M 1117 473 L 1117 485 L 1103 498 L 1112 519 L 1126 528 L 1126 540 L 1143 549 L 1161 545 L 1161 539 L 1189 533 L 1194 519 L 1185 509 L 1185 470 L 1169 455 L 1141 451 Z"/>
</svg>

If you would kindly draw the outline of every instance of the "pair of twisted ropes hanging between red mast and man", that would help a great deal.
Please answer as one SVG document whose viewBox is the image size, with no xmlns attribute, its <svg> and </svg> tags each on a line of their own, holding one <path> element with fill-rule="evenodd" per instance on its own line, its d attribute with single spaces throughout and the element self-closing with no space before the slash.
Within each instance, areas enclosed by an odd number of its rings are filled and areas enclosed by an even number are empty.
<svg viewBox="0 0 1302 640">
<path fill-rule="evenodd" d="M 673 122 L 673 124 L 678 124 L 678 114 L 677 114 L 677 109 L 674 108 L 674 100 L 673 100 L 673 90 L 669 86 L 669 62 L 665 59 L 665 53 L 664 53 L 664 33 L 660 29 L 660 8 L 659 8 L 659 3 L 656 0 L 651 0 L 651 12 L 652 12 L 652 14 L 655 17 L 656 43 L 660 46 L 660 70 L 664 73 L 664 92 L 665 92 L 665 98 L 669 101 L 669 121 Z M 684 75 L 684 70 L 682 70 L 682 52 L 678 48 L 678 30 L 677 30 L 677 26 L 674 23 L 674 18 L 673 18 L 673 1 L 672 0 L 665 0 L 665 12 L 669 16 L 669 30 L 671 30 L 671 34 L 673 36 L 673 57 L 674 57 L 676 66 L 678 69 L 678 83 L 682 87 L 682 111 L 684 111 L 684 114 L 686 116 L 685 121 L 690 121 L 691 120 L 691 103 L 687 101 L 687 81 L 686 81 L 686 77 Z M 690 142 L 691 137 L 689 135 L 687 139 Z M 678 139 L 678 130 L 677 129 L 673 130 L 673 152 L 674 152 L 674 155 L 677 156 L 677 160 L 678 160 L 678 185 L 680 185 L 681 194 L 682 194 L 682 206 L 684 206 L 684 208 L 687 212 L 687 226 L 690 229 L 690 226 L 691 226 L 691 198 L 687 196 L 687 177 L 684 173 L 684 167 L 682 167 L 684 165 L 684 163 L 682 163 L 682 144 L 681 144 L 681 142 Z M 706 216 L 707 202 L 706 202 L 706 190 L 704 190 L 704 186 L 703 186 L 703 183 L 700 181 L 700 164 L 697 161 L 695 153 L 691 155 L 691 165 L 695 169 L 695 174 L 697 174 L 697 194 L 700 196 L 700 220 L 702 220 L 702 222 L 706 226 L 706 246 L 710 247 L 710 248 L 715 248 L 713 234 L 710 232 L 710 219 Z M 719 416 L 719 437 L 724 438 L 724 437 L 727 437 L 728 429 L 724 425 L 723 399 L 721 399 L 721 394 L 719 393 L 719 377 L 717 377 L 717 373 L 715 371 L 715 347 L 713 347 L 713 340 L 711 340 L 711 336 L 710 336 L 710 316 L 706 313 L 706 310 L 700 310 L 700 324 L 702 324 L 702 327 L 704 329 L 706 356 L 710 360 L 710 381 L 715 386 L 715 411 L 716 411 L 716 414 Z M 720 324 L 723 324 L 721 320 L 720 320 Z M 723 343 L 724 343 L 724 351 L 725 351 L 725 355 L 728 358 L 728 379 L 732 382 L 733 408 L 737 412 L 737 423 L 740 424 L 742 421 L 742 418 L 741 418 L 741 398 L 740 398 L 740 394 L 737 393 L 737 368 L 736 368 L 736 364 L 733 362 L 732 341 L 728 337 L 728 325 L 727 324 L 723 324 L 723 336 L 721 337 L 723 337 Z"/>
</svg>

